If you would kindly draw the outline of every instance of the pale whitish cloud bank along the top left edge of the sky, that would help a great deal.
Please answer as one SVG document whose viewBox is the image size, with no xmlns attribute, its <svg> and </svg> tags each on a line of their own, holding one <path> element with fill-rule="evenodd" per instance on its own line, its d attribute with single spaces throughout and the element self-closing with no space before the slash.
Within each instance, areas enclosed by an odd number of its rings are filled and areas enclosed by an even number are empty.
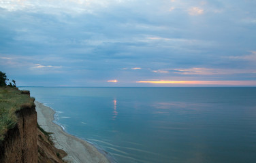
<svg viewBox="0 0 256 163">
<path fill-rule="evenodd" d="M 102 8 L 111 7 L 123 2 L 123 0 L 8 0 L 0 1 L 0 7 L 9 12 L 41 12 L 60 16 L 61 13 L 71 15 L 93 14 Z"/>
</svg>

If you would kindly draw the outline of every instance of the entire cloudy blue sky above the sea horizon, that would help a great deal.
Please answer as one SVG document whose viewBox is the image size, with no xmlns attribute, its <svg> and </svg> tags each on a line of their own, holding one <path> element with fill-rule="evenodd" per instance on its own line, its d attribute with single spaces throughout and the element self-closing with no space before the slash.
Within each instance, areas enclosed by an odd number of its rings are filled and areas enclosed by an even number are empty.
<svg viewBox="0 0 256 163">
<path fill-rule="evenodd" d="M 256 86 L 255 0 L 0 0 L 17 86 Z"/>
</svg>

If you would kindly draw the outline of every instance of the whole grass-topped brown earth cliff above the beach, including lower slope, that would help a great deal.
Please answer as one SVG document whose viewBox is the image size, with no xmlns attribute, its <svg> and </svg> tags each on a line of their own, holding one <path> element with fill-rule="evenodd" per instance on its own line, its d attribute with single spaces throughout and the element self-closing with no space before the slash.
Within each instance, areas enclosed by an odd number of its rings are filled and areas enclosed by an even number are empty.
<svg viewBox="0 0 256 163">
<path fill-rule="evenodd" d="M 63 162 L 65 151 L 54 147 L 50 133 L 37 127 L 33 101 L 28 91 L 0 88 L 1 163 Z"/>
</svg>

